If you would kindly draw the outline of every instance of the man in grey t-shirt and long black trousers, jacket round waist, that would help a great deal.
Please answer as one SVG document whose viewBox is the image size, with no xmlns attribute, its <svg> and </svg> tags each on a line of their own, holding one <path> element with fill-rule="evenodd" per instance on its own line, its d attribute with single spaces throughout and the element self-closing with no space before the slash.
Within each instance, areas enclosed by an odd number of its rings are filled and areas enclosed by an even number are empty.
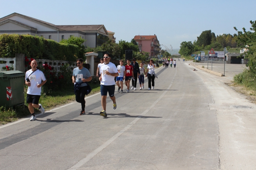
<svg viewBox="0 0 256 170">
<path fill-rule="evenodd" d="M 76 60 L 76 67 L 73 70 L 72 82 L 75 85 L 76 102 L 81 103 L 82 111 L 80 115 L 85 115 L 85 95 L 87 94 L 88 85 L 86 82 L 91 81 L 92 77 L 88 69 L 83 67 L 83 59 Z"/>
</svg>

